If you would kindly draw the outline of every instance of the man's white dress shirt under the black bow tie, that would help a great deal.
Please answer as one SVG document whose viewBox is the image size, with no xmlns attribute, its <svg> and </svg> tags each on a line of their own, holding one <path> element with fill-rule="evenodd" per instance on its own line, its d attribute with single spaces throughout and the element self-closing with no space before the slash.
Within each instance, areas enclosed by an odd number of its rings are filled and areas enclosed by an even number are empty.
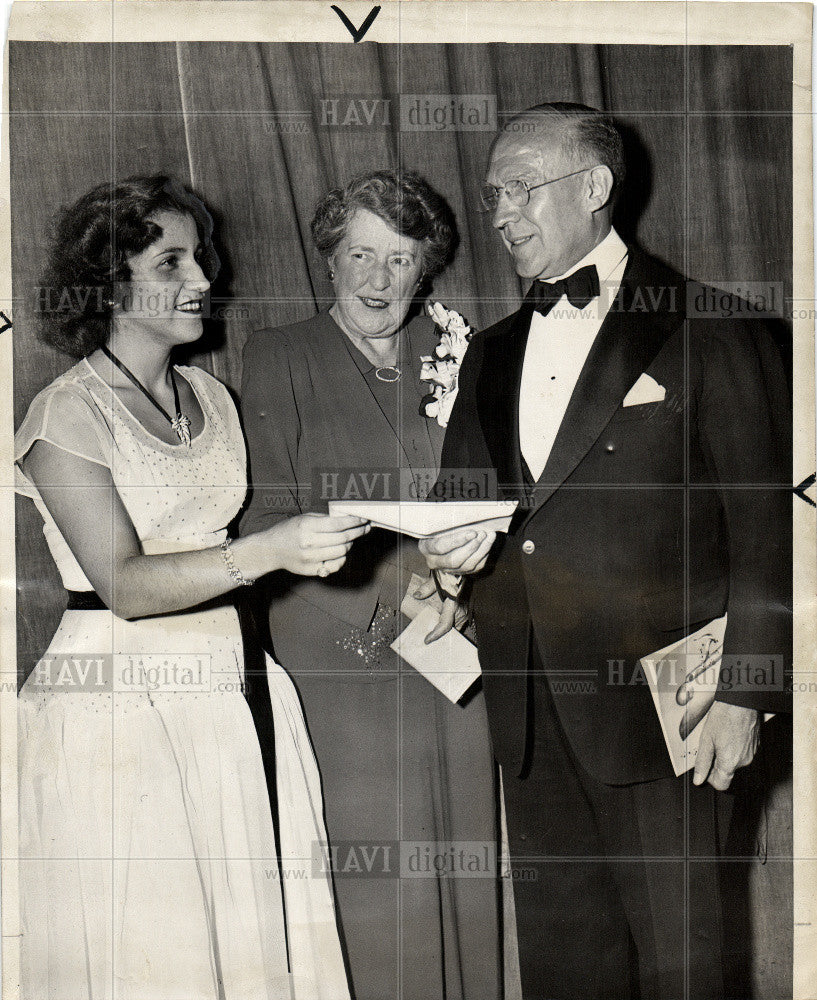
<svg viewBox="0 0 817 1000">
<path fill-rule="evenodd" d="M 587 355 L 621 286 L 627 247 L 615 229 L 570 270 L 549 281 L 588 264 L 595 264 L 598 272 L 598 298 L 576 309 L 563 295 L 547 316 L 534 312 L 531 320 L 519 392 L 519 441 L 534 480 L 542 475 Z"/>
</svg>

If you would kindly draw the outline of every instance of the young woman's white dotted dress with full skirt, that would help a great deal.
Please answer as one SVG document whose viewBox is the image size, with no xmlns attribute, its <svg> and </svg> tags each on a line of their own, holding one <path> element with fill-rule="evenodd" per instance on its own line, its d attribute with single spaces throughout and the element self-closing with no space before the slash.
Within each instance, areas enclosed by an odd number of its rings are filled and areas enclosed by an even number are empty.
<svg viewBox="0 0 817 1000">
<path fill-rule="evenodd" d="M 110 468 L 145 553 L 219 544 L 246 492 L 229 394 L 177 370 L 204 413 L 190 448 L 148 433 L 86 361 L 37 396 L 15 441 L 18 460 L 44 439 Z M 66 589 L 90 590 L 17 471 Z M 348 1000 L 300 705 L 267 658 L 279 872 L 243 662 L 229 606 L 65 612 L 19 699 L 26 1000 Z"/>
</svg>

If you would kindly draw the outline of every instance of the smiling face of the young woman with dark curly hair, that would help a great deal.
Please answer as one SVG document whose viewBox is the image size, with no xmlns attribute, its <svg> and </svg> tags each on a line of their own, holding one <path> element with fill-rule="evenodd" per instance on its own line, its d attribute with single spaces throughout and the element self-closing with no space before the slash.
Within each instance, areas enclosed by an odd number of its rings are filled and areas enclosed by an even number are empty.
<svg viewBox="0 0 817 1000">
<path fill-rule="evenodd" d="M 162 235 L 127 258 L 130 281 L 122 287 L 115 322 L 128 331 L 173 346 L 198 340 L 204 296 L 210 282 L 199 264 L 200 242 L 191 215 L 157 212 L 151 216 Z"/>
</svg>

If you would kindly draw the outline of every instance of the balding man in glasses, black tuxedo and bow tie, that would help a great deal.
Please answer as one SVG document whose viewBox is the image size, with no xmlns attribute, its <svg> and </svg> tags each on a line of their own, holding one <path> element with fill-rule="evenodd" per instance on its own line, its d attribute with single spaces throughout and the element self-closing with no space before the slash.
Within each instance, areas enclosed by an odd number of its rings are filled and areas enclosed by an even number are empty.
<svg viewBox="0 0 817 1000">
<path fill-rule="evenodd" d="M 762 323 L 694 315 L 684 279 L 621 241 L 623 174 L 585 106 L 495 140 L 483 201 L 533 284 L 469 347 L 440 483 L 488 468 L 521 502 L 499 541 L 423 543 L 432 569 L 477 574 L 525 1000 L 724 995 L 715 797 L 786 707 L 782 365 Z M 722 683 L 676 778 L 636 665 L 724 613 L 722 664 L 774 664 L 771 690 Z"/>
</svg>

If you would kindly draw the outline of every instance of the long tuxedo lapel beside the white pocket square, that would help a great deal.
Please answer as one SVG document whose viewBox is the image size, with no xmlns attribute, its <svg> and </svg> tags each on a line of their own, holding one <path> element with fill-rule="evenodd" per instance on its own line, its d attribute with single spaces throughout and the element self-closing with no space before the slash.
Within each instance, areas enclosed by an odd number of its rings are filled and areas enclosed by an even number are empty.
<svg viewBox="0 0 817 1000">
<path fill-rule="evenodd" d="M 582 368 L 529 517 L 553 495 L 590 451 L 629 389 L 684 319 L 685 290 L 674 272 L 644 266 L 637 251 Z M 517 389 L 518 398 L 518 389 Z M 518 439 L 518 420 L 517 439 Z"/>
</svg>

